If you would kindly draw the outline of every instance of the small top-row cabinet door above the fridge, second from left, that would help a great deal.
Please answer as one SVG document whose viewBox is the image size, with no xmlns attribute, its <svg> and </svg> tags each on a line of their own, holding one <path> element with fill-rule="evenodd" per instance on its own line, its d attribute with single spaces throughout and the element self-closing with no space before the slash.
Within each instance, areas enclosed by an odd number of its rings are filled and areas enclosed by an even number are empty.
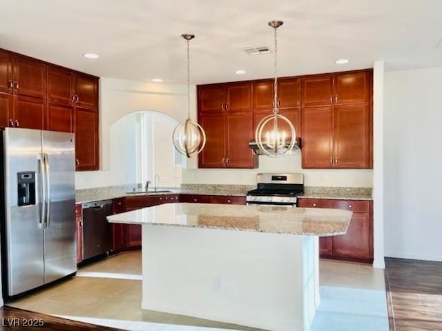
<svg viewBox="0 0 442 331">
<path fill-rule="evenodd" d="M 16 94 L 46 99 L 46 64 L 16 56 L 12 70 Z"/>
</svg>

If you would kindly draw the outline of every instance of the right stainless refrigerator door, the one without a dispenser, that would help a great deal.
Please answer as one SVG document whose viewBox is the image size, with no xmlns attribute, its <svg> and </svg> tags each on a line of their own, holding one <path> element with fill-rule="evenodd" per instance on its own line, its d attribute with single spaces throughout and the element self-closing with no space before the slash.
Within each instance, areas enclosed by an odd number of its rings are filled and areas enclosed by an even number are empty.
<svg viewBox="0 0 442 331">
<path fill-rule="evenodd" d="M 41 141 L 48 170 L 44 260 L 49 283 L 77 271 L 74 134 L 42 131 Z"/>
</svg>

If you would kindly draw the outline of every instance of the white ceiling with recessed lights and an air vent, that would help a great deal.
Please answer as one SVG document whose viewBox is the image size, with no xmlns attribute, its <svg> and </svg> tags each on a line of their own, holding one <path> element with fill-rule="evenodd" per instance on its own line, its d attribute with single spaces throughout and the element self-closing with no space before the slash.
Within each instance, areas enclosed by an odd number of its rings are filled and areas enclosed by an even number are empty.
<svg viewBox="0 0 442 331">
<path fill-rule="evenodd" d="M 99 77 L 191 83 L 371 68 L 442 66 L 442 0 L 0 0 L 0 48 Z M 95 52 L 99 59 L 81 54 Z M 336 59 L 348 58 L 347 65 Z M 247 70 L 238 75 L 237 69 Z"/>
</svg>

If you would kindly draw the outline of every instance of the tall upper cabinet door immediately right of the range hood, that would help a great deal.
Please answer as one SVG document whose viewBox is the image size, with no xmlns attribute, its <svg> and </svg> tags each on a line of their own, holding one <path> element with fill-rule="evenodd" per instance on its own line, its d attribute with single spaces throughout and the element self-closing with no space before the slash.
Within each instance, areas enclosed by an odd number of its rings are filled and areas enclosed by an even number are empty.
<svg viewBox="0 0 442 331">
<path fill-rule="evenodd" d="M 302 168 L 332 168 L 333 108 L 302 108 Z"/>
</svg>

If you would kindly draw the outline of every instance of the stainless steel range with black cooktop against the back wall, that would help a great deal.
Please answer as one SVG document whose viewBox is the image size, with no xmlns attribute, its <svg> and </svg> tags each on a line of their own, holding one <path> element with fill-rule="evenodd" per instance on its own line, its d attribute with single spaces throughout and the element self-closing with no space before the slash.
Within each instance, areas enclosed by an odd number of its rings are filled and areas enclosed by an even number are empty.
<svg viewBox="0 0 442 331">
<path fill-rule="evenodd" d="M 258 174 L 258 188 L 247 192 L 247 204 L 291 205 L 304 192 L 303 174 Z"/>
</svg>

